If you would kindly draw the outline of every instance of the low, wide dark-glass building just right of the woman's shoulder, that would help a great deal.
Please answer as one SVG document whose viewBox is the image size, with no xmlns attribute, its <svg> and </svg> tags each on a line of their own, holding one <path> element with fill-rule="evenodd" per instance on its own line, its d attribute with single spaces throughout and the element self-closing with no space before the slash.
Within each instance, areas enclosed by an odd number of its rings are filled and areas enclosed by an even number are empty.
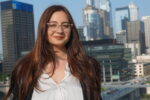
<svg viewBox="0 0 150 100">
<path fill-rule="evenodd" d="M 83 41 L 87 53 L 101 64 L 103 82 L 114 82 L 131 79 L 132 70 L 128 67 L 131 50 L 116 44 L 116 40 Z"/>
</svg>

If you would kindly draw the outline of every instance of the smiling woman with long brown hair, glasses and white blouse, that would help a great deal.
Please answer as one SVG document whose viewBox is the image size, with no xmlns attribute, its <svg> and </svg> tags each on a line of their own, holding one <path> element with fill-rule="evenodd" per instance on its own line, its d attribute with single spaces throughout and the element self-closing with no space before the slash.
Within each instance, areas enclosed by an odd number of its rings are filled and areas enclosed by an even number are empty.
<svg viewBox="0 0 150 100">
<path fill-rule="evenodd" d="M 41 16 L 38 37 L 12 72 L 4 100 L 101 100 L 100 66 L 88 57 L 69 11 L 54 5 Z"/>
</svg>

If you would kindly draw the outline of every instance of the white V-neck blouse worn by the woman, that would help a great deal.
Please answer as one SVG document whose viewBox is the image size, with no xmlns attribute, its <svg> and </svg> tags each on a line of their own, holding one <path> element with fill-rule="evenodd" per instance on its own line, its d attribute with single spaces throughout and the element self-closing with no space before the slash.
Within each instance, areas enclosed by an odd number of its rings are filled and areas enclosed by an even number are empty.
<svg viewBox="0 0 150 100">
<path fill-rule="evenodd" d="M 42 91 L 34 89 L 32 100 L 83 100 L 80 82 L 71 74 L 68 64 L 65 77 L 59 84 L 45 73 L 40 76 L 38 84 Z"/>
</svg>

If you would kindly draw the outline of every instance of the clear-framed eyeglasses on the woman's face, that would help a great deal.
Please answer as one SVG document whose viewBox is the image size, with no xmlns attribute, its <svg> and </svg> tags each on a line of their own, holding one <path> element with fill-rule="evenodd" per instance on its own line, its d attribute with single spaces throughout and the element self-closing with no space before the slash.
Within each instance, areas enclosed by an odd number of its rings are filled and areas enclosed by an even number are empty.
<svg viewBox="0 0 150 100">
<path fill-rule="evenodd" d="M 59 27 L 61 27 L 63 29 L 63 31 L 67 31 L 71 28 L 71 26 L 73 24 L 71 24 L 69 22 L 64 22 L 61 25 L 58 25 L 58 23 L 49 22 L 49 23 L 47 23 L 47 25 L 51 31 L 56 31 L 56 30 L 58 30 Z"/>
</svg>

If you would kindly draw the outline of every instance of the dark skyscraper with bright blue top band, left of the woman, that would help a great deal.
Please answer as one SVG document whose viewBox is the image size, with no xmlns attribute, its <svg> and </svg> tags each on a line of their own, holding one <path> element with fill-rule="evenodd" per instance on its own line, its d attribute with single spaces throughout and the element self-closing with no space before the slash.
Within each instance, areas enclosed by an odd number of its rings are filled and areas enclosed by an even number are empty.
<svg viewBox="0 0 150 100">
<path fill-rule="evenodd" d="M 34 44 L 33 6 L 17 1 L 4 1 L 0 5 L 3 72 L 10 74 L 16 60 Z"/>
</svg>

